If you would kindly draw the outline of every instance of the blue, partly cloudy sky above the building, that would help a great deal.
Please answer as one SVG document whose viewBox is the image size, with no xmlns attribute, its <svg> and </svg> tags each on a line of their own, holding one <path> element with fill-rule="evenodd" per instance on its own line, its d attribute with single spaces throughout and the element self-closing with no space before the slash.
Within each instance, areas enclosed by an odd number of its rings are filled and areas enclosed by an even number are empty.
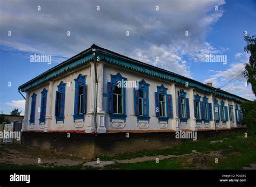
<svg viewBox="0 0 256 187">
<path fill-rule="evenodd" d="M 255 9 L 253 0 L 0 0 L 0 112 L 24 114 L 19 85 L 92 44 L 253 100 L 240 74 Z M 32 63 L 32 54 L 52 62 Z"/>
</svg>

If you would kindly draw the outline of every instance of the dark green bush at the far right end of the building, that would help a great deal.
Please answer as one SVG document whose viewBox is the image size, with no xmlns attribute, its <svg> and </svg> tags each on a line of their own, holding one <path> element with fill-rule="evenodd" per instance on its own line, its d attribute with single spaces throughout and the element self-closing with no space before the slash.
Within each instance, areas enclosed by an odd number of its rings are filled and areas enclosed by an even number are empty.
<svg viewBox="0 0 256 187">
<path fill-rule="evenodd" d="M 242 124 L 246 125 L 250 130 L 256 133 L 256 100 L 253 102 L 248 100 L 241 104 Z"/>
</svg>

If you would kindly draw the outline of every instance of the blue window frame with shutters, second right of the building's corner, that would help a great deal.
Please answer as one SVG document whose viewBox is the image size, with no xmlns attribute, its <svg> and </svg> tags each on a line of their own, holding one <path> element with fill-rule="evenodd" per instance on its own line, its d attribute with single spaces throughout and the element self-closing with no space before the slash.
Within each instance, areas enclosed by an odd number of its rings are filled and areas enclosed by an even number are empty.
<svg viewBox="0 0 256 187">
<path fill-rule="evenodd" d="M 137 120 L 149 120 L 149 85 L 142 80 L 139 87 L 134 88 L 134 114 Z"/>
</svg>

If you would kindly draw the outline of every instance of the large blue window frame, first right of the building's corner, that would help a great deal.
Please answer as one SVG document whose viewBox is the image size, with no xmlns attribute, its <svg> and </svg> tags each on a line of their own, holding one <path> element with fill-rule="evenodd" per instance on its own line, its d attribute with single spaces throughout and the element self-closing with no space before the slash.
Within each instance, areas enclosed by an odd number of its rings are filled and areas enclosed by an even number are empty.
<svg viewBox="0 0 256 187">
<path fill-rule="evenodd" d="M 110 114 L 110 121 L 112 119 L 126 120 L 126 88 L 118 87 L 120 81 L 127 81 L 127 78 L 118 73 L 111 75 L 110 82 L 107 82 L 107 113 Z"/>
</svg>

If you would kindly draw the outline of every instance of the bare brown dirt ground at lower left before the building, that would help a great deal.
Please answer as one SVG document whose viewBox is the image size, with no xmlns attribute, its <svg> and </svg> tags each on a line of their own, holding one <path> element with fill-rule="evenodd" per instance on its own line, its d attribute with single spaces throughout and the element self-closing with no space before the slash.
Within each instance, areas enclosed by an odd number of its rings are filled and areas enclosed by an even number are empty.
<svg viewBox="0 0 256 187">
<path fill-rule="evenodd" d="M 56 150 L 42 150 L 23 145 L 0 145 L 0 163 L 54 167 L 75 166 L 84 162 L 86 162 L 85 158 L 57 153 Z"/>
</svg>

